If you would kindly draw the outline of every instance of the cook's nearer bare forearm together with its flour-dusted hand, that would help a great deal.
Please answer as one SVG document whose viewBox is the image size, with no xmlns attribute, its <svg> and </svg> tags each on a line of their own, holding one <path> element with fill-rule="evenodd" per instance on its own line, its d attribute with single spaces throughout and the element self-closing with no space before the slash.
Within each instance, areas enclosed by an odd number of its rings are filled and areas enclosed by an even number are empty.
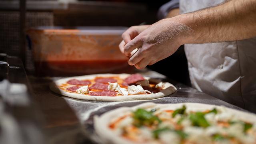
<svg viewBox="0 0 256 144">
<path fill-rule="evenodd" d="M 160 20 L 120 50 L 128 64 L 144 68 L 172 55 L 182 44 L 242 40 L 256 36 L 256 0 L 230 0 L 219 6 Z"/>
</svg>

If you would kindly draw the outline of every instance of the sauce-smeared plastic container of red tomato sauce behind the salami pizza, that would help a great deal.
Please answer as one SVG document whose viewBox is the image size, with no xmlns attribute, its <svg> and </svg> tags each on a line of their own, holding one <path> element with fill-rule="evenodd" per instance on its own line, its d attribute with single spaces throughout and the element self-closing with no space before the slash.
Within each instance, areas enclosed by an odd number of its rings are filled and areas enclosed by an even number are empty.
<svg viewBox="0 0 256 144">
<path fill-rule="evenodd" d="M 27 31 L 37 76 L 130 72 L 118 45 L 125 27 L 38 27 Z"/>
</svg>

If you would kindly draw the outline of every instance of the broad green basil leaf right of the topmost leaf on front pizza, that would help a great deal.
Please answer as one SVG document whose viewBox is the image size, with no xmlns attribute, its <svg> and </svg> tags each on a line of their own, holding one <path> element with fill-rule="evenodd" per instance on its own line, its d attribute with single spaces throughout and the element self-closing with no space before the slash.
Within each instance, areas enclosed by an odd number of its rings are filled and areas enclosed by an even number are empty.
<svg viewBox="0 0 256 144">
<path fill-rule="evenodd" d="M 202 112 L 196 112 L 194 114 L 190 114 L 189 119 L 192 122 L 193 126 L 199 126 L 203 128 L 210 126 L 210 124 L 204 118 L 204 113 Z"/>
</svg>

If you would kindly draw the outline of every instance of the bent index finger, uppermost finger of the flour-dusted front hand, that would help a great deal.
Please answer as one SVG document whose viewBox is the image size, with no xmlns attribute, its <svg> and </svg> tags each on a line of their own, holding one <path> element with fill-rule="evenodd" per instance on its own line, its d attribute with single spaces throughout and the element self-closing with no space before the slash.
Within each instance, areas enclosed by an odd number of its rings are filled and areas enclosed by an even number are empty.
<svg viewBox="0 0 256 144">
<path fill-rule="evenodd" d="M 136 48 L 140 48 L 142 46 L 142 41 L 138 40 L 138 38 L 134 38 L 133 40 L 131 40 L 130 42 L 128 42 L 125 46 L 124 46 L 124 54 L 126 56 L 130 56 L 130 53 L 136 49 Z"/>
</svg>

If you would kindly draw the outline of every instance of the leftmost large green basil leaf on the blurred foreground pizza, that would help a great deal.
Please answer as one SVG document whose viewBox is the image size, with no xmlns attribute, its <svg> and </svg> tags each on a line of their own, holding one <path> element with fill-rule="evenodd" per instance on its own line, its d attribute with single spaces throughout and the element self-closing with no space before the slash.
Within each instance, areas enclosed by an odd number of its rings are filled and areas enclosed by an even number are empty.
<svg viewBox="0 0 256 144">
<path fill-rule="evenodd" d="M 152 114 L 153 112 L 148 112 L 142 108 L 137 109 L 133 114 L 134 126 L 140 127 L 143 125 L 152 125 L 155 122 L 161 123 L 162 121 Z"/>
</svg>

